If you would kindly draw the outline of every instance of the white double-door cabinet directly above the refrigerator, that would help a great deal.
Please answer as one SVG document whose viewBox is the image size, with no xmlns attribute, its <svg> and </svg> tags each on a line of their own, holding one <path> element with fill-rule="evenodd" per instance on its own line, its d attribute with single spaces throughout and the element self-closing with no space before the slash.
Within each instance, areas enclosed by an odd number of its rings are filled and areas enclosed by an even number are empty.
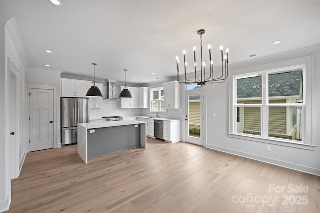
<svg viewBox="0 0 320 213">
<path fill-rule="evenodd" d="M 61 78 L 62 97 L 85 97 L 89 81 Z"/>
</svg>

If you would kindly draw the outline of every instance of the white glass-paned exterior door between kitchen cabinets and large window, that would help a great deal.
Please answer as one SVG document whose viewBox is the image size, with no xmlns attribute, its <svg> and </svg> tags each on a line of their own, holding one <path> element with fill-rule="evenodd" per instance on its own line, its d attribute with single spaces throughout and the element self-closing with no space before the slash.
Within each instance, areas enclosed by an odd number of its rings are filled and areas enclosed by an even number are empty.
<svg viewBox="0 0 320 213">
<path fill-rule="evenodd" d="M 203 146 L 203 91 L 185 92 L 185 141 Z"/>
</svg>

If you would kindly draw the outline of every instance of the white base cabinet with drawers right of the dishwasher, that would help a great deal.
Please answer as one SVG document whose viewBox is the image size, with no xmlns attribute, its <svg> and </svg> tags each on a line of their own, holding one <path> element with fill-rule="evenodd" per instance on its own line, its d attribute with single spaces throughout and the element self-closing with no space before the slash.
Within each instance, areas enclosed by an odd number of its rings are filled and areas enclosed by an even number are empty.
<svg viewBox="0 0 320 213">
<path fill-rule="evenodd" d="M 179 142 L 180 135 L 180 120 L 163 121 L 163 139 L 166 142 Z"/>
</svg>

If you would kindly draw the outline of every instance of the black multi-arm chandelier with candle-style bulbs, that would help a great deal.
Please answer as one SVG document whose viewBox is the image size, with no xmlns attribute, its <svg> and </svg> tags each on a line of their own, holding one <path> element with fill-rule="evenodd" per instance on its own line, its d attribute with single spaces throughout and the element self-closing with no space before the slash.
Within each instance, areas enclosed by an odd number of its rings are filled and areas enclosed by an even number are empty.
<svg viewBox="0 0 320 213">
<path fill-rule="evenodd" d="M 229 49 L 225 49 L 225 55 L 223 57 L 223 46 L 220 46 L 221 51 L 221 75 L 217 78 L 213 78 L 213 61 L 211 60 L 211 45 L 208 45 L 209 49 L 209 67 L 210 67 L 210 75 L 208 77 L 205 76 L 205 63 L 202 61 L 202 34 L 204 34 L 204 29 L 199 29 L 197 33 L 200 35 L 200 76 L 196 75 L 196 62 L 195 62 L 195 46 L 193 46 L 193 55 L 194 55 L 194 80 L 189 80 L 186 77 L 186 61 L 185 61 L 185 50 L 183 50 L 183 65 L 184 65 L 184 81 L 179 80 L 179 58 L 176 56 L 176 75 L 177 81 L 179 84 L 197 84 L 197 85 L 205 85 L 212 83 L 222 83 L 228 77 L 228 52 Z M 224 59 L 224 66 L 223 66 Z"/>
</svg>

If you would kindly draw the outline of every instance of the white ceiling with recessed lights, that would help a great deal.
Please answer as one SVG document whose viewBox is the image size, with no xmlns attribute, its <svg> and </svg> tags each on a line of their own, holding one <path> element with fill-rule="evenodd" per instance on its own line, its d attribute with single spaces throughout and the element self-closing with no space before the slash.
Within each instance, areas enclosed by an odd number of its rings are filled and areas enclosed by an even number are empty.
<svg viewBox="0 0 320 213">
<path fill-rule="evenodd" d="M 91 77 L 97 63 L 97 78 L 123 81 L 128 69 L 127 82 L 145 83 L 175 76 L 183 49 L 189 64 L 193 45 L 199 58 L 198 29 L 205 29 L 203 58 L 210 43 L 216 66 L 221 44 L 232 65 L 320 43 L 320 0 L 61 1 L 0 0 L 1 15 L 15 18 L 29 66 Z"/>
</svg>

